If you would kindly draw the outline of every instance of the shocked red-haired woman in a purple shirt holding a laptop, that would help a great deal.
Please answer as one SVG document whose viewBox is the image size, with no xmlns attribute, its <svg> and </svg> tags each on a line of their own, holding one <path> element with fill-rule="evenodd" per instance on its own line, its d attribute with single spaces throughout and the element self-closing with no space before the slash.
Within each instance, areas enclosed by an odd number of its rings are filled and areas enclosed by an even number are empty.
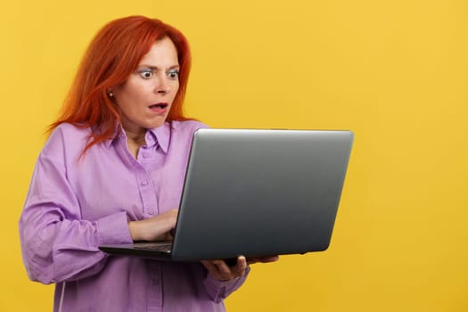
<svg viewBox="0 0 468 312">
<path fill-rule="evenodd" d="M 244 257 L 228 267 L 98 250 L 171 238 L 192 135 L 205 127 L 182 113 L 190 61 L 177 29 L 141 16 L 111 21 L 89 46 L 20 219 L 29 277 L 56 283 L 55 311 L 223 311 L 244 282 Z"/>
</svg>

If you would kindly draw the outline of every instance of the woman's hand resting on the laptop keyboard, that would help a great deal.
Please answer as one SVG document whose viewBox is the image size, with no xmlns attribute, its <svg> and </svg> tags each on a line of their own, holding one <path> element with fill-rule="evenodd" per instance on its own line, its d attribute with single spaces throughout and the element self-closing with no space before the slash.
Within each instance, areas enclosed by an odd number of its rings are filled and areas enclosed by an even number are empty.
<svg viewBox="0 0 468 312">
<path fill-rule="evenodd" d="M 156 217 L 146 218 L 139 221 L 129 221 L 128 229 L 135 241 L 170 241 L 172 235 L 170 230 L 176 226 L 177 209 L 171 209 Z"/>
</svg>

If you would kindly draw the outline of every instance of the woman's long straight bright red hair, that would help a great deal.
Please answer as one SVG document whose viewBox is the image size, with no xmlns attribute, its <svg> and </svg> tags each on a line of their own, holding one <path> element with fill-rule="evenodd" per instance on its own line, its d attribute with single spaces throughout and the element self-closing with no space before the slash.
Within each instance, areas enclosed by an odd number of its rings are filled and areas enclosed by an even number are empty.
<svg viewBox="0 0 468 312">
<path fill-rule="evenodd" d="M 186 120 L 182 106 L 191 54 L 185 36 L 162 21 L 129 16 L 111 21 L 94 37 L 64 101 L 62 114 L 47 132 L 50 134 L 64 122 L 76 127 L 90 127 L 90 140 L 83 154 L 94 144 L 112 138 L 121 121 L 108 90 L 124 83 L 152 45 L 166 37 L 176 45 L 180 66 L 179 89 L 167 120 Z"/>
</svg>

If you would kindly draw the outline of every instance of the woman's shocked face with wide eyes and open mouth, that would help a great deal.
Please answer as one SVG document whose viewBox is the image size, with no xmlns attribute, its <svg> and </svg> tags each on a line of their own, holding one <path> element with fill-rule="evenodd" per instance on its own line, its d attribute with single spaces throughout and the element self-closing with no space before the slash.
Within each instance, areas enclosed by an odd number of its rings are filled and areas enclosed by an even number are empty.
<svg viewBox="0 0 468 312">
<path fill-rule="evenodd" d="M 160 127 L 179 88 L 177 49 L 166 37 L 152 45 L 127 81 L 111 89 L 127 135 Z"/>
</svg>

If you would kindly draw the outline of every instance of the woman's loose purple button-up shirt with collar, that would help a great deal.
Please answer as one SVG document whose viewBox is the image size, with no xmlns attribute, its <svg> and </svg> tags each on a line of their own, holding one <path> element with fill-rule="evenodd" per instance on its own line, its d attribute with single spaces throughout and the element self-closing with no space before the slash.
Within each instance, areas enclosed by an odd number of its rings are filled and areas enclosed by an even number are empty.
<svg viewBox="0 0 468 312">
<path fill-rule="evenodd" d="M 29 278 L 56 283 L 54 311 L 224 311 L 245 276 L 219 282 L 199 263 L 109 256 L 132 242 L 127 222 L 177 208 L 197 121 L 146 132 L 138 157 L 123 131 L 81 160 L 89 129 L 57 127 L 40 153 L 20 219 Z"/>
</svg>

